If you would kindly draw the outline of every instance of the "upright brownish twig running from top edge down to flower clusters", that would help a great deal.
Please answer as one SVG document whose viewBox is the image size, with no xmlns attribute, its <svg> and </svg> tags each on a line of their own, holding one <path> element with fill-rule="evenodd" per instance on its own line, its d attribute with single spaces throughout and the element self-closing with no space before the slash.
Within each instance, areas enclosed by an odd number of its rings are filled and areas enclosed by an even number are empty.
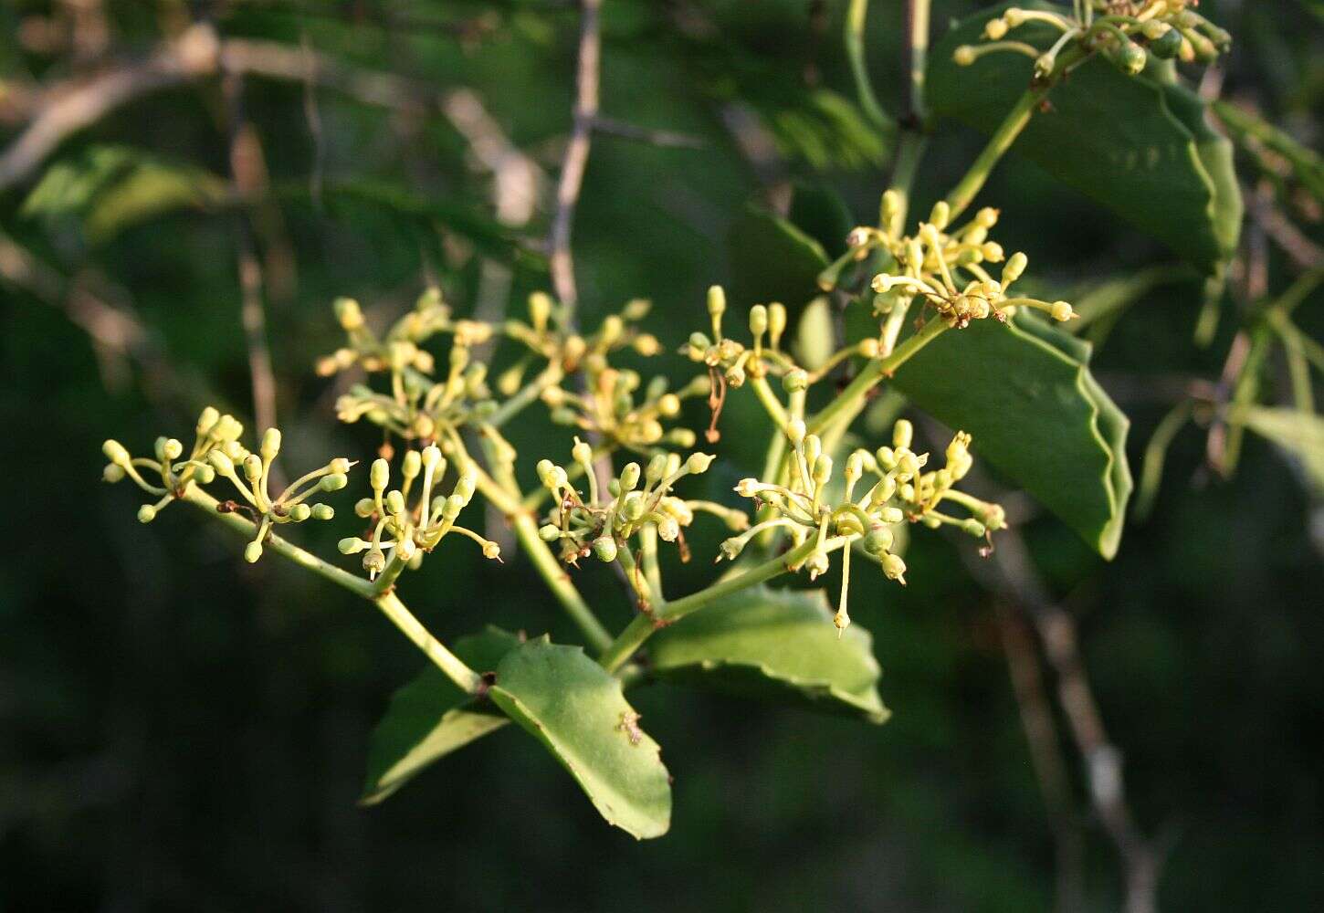
<svg viewBox="0 0 1324 913">
<path fill-rule="evenodd" d="M 593 142 L 593 120 L 597 118 L 600 61 L 602 38 L 598 30 L 602 0 L 581 0 L 579 54 L 575 69 L 575 120 L 571 140 L 561 159 L 561 176 L 556 184 L 556 210 L 547 237 L 552 290 L 573 323 L 579 307 L 579 288 L 575 283 L 575 259 L 571 254 L 571 236 L 575 228 L 575 208 L 584 187 L 584 169 Z"/>
</svg>

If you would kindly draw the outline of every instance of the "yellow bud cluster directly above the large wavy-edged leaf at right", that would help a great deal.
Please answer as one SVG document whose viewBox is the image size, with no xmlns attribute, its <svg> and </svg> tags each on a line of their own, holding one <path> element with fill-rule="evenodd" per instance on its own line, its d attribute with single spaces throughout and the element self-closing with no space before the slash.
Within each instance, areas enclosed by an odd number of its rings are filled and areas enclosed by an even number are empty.
<svg viewBox="0 0 1324 913">
<path fill-rule="evenodd" d="M 898 200 L 888 198 L 890 193 L 883 195 L 884 217 L 888 209 L 900 205 Z M 1054 320 L 1075 316 L 1067 302 L 1008 296 L 1008 290 L 1025 273 L 1029 261 L 1023 253 L 1005 257 L 1002 245 L 988 239 L 989 229 L 997 225 L 997 209 L 985 206 L 960 228 L 949 229 L 949 218 L 947 202 L 939 201 L 914 236 L 898 237 L 886 229 L 863 228 L 851 233 L 855 249 L 883 247 L 891 255 L 891 271 L 879 273 L 873 279 L 873 288 L 878 292 L 875 312 L 888 312 L 899 298 L 907 302 L 922 298 L 957 328 L 985 318 L 1006 320 L 1016 307 L 1045 311 Z M 990 263 L 1002 263 L 996 279 L 986 269 Z"/>
</svg>

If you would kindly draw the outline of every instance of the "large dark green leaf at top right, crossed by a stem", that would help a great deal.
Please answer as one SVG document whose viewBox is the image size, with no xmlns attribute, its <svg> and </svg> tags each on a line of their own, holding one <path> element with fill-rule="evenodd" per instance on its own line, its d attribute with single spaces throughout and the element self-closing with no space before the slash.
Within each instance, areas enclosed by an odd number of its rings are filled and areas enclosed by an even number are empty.
<svg viewBox="0 0 1324 913">
<path fill-rule="evenodd" d="M 1009 5 L 961 20 L 935 46 L 927 93 L 933 112 L 990 134 L 1029 86 L 1031 61 L 1022 54 L 984 54 L 970 66 L 952 62 L 956 48 L 980 44 L 984 22 Z M 1013 37 L 1047 49 L 1058 34 L 1029 22 Z M 1034 115 L 1014 152 L 1201 269 L 1214 271 L 1231 255 L 1242 217 L 1231 144 L 1209 128 L 1207 106 L 1196 94 L 1123 75 L 1096 57 L 1049 101 L 1051 110 Z"/>
</svg>

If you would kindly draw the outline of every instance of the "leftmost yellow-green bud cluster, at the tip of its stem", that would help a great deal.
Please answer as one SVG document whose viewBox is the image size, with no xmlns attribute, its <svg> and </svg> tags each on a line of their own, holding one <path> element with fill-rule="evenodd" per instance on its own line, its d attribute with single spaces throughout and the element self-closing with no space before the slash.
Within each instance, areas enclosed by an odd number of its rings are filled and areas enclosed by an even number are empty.
<svg viewBox="0 0 1324 913">
<path fill-rule="evenodd" d="M 225 500 L 217 509 L 240 511 L 252 516 L 257 524 L 257 536 L 244 549 L 244 557 L 254 562 L 262 557 L 262 543 L 273 527 L 334 517 L 335 511 L 330 504 L 308 504 L 307 500 L 319 492 L 344 488 L 354 463 L 344 456 L 336 456 L 299 476 L 273 498 L 271 464 L 281 453 L 281 433 L 274 427 L 267 429 L 262 434 L 257 453 L 250 453 L 240 443 L 242 434 L 244 426 L 233 415 L 222 415 L 208 406 L 197 418 L 193 446 L 187 458 L 184 445 L 176 438 L 156 438 L 156 459 L 130 456 L 118 441 L 107 441 L 102 446 L 102 453 L 110 463 L 103 471 L 103 478 L 106 482 L 119 482 L 127 475 L 143 491 L 159 495 L 159 501 L 143 504 L 138 509 L 138 519 L 142 523 L 151 523 L 162 508 L 183 498 L 191 484 L 207 486 L 214 482 L 217 475 L 224 476 L 246 504 Z M 162 484 L 147 482 L 139 468 L 158 474 Z"/>
</svg>

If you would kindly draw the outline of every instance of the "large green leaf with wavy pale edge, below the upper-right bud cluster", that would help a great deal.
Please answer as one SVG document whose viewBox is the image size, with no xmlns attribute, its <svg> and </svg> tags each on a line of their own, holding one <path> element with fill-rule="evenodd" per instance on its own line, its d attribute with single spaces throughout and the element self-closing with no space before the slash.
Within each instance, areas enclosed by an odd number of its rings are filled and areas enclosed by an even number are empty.
<svg viewBox="0 0 1324 913">
<path fill-rule="evenodd" d="M 892 382 L 920 409 L 973 434 L 977 459 L 1111 558 L 1132 488 L 1129 422 L 1079 345 L 1042 322 L 976 320 L 925 345 Z"/>
</svg>

